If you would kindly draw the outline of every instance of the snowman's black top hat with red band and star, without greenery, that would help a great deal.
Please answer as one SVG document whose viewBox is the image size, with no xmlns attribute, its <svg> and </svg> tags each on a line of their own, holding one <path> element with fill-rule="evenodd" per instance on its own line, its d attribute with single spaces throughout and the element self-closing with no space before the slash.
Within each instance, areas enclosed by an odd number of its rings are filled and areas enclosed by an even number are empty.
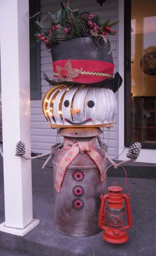
<svg viewBox="0 0 156 256">
<path fill-rule="evenodd" d="M 114 63 L 110 41 L 100 37 L 81 37 L 59 43 L 52 49 L 54 78 L 44 78 L 52 85 L 90 84 L 116 92 L 122 84 L 118 72 L 113 76 Z"/>
</svg>

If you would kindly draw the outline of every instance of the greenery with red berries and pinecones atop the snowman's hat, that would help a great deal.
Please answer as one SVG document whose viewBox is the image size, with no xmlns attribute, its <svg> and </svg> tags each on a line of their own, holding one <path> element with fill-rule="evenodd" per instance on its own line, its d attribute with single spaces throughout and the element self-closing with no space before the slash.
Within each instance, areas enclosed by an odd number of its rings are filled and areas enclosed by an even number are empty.
<svg viewBox="0 0 156 256">
<path fill-rule="evenodd" d="M 48 12 L 46 19 L 36 21 L 38 41 L 44 41 L 48 49 L 62 41 L 68 41 L 77 37 L 101 36 L 116 33 L 110 27 L 117 22 L 110 23 L 110 19 L 100 23 L 100 18 L 94 13 L 79 13 L 79 9 L 71 9 L 69 0 L 61 3 L 61 9 L 55 14 Z"/>
</svg>

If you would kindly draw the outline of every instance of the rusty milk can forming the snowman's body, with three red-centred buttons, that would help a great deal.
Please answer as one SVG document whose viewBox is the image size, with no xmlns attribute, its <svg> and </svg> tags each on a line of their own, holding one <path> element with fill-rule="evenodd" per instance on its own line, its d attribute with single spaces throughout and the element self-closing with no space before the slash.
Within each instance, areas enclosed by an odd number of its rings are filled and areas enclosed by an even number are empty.
<svg viewBox="0 0 156 256">
<path fill-rule="evenodd" d="M 58 132 L 64 137 L 63 148 L 59 150 L 53 161 L 54 186 L 57 188 L 56 173 L 60 162 L 68 160 L 74 147 L 79 151 L 73 160 L 67 163 L 63 174 L 59 193 L 55 190 L 54 225 L 65 235 L 83 237 L 94 235 L 98 228 L 98 211 L 100 207 L 100 184 L 103 173 L 100 174 L 98 162 L 104 165 L 102 150 L 96 147 L 96 137 L 101 134 L 100 128 L 62 128 Z M 80 146 L 79 146 L 80 144 Z M 82 145 L 89 145 L 83 150 Z M 70 151 L 69 151 L 70 150 Z M 87 150 L 93 150 L 93 155 Z M 97 158 L 93 160 L 92 157 Z M 65 166 L 63 166 L 65 167 Z M 104 166 L 102 166 L 104 168 Z"/>
</svg>

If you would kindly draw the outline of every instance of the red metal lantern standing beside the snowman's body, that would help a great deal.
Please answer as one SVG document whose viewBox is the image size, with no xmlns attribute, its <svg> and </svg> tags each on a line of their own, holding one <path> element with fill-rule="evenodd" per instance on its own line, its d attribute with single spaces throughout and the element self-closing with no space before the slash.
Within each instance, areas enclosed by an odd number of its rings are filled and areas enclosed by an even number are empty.
<svg viewBox="0 0 156 256">
<path fill-rule="evenodd" d="M 127 229 L 132 226 L 130 195 L 123 193 L 116 182 L 113 185 L 101 196 L 98 225 L 104 230 L 102 238 L 108 243 L 126 243 L 129 239 Z"/>
</svg>

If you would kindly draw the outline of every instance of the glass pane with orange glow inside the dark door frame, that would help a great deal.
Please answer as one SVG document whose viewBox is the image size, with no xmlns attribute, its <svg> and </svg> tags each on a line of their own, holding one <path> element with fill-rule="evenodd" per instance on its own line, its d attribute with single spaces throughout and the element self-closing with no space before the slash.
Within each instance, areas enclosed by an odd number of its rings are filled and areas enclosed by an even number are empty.
<svg viewBox="0 0 156 256">
<path fill-rule="evenodd" d="M 132 0 L 132 142 L 156 144 L 156 1 Z"/>
</svg>

